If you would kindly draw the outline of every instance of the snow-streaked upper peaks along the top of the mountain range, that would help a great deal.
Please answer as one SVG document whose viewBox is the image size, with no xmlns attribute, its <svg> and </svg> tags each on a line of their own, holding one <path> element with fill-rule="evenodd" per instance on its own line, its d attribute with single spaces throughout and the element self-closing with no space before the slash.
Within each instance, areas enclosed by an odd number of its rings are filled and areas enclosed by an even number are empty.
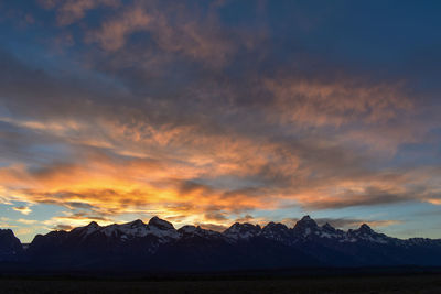
<svg viewBox="0 0 441 294">
<path fill-rule="evenodd" d="M 278 241 L 288 246 L 302 242 L 337 242 L 337 243 L 357 243 L 369 242 L 376 244 L 396 244 L 396 246 L 441 246 L 441 241 L 435 242 L 430 239 L 413 238 L 400 240 L 390 238 L 384 233 L 375 232 L 368 225 L 363 224 L 358 229 L 343 231 L 335 229 L 330 224 L 319 226 L 310 216 L 301 218 L 293 228 L 288 228 L 283 224 L 269 222 L 263 228 L 259 225 L 235 222 L 224 232 L 205 230 L 201 227 L 184 226 L 176 230 L 173 225 L 166 220 L 153 217 L 148 224 L 137 219 L 126 224 L 114 224 L 100 227 L 92 221 L 85 227 L 73 229 L 69 235 L 79 236 L 86 239 L 89 236 L 103 235 L 120 241 L 135 240 L 137 238 L 155 237 L 159 243 L 175 241 L 180 238 L 225 238 L 229 243 L 239 240 L 251 240 L 255 237 L 262 237 Z"/>
</svg>

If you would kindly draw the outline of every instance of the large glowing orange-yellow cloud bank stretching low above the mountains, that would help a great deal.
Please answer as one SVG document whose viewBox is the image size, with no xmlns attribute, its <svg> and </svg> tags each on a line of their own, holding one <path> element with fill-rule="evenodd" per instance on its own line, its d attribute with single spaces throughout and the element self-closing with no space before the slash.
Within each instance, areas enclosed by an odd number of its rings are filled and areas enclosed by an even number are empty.
<svg viewBox="0 0 441 294">
<path fill-rule="evenodd" d="M 437 189 L 430 184 L 437 171 L 369 171 L 367 159 L 326 141 L 256 141 L 201 134 L 194 127 L 129 127 L 110 120 L 80 127 L 49 122 L 47 129 L 37 121 L 14 123 L 66 140 L 76 146 L 75 162 L 1 167 L 2 199 L 89 211 L 76 218 L 82 224 L 90 216 L 110 221 L 123 214 L 154 214 L 220 226 L 247 210 L 424 200 Z M 105 135 L 95 137 L 96 128 Z M 427 190 L 413 188 L 419 186 Z"/>
</svg>

